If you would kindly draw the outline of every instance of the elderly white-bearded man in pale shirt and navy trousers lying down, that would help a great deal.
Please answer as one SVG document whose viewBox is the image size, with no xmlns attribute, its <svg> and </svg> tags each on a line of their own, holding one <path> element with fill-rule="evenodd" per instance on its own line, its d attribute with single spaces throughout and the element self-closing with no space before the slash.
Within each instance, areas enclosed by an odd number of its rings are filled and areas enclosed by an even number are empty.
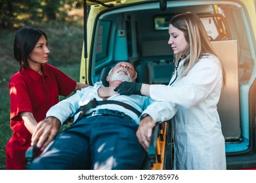
<svg viewBox="0 0 256 183">
<path fill-rule="evenodd" d="M 149 97 L 114 92 L 121 82 L 135 82 L 136 77 L 133 65 L 119 62 L 106 77 L 109 87 L 96 82 L 51 107 L 32 137 L 32 145 L 44 152 L 28 169 L 142 169 L 155 122 L 171 119 L 176 108 Z M 110 103 L 85 105 L 95 100 Z M 83 105 L 87 109 L 79 110 Z M 143 114 L 150 116 L 140 121 Z M 58 133 L 70 116 L 74 125 Z"/>
</svg>

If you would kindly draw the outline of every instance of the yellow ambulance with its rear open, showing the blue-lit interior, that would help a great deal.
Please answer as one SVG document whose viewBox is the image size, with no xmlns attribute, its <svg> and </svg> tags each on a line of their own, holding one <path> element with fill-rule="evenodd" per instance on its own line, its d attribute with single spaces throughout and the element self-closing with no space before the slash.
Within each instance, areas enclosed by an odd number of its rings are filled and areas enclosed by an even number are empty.
<svg viewBox="0 0 256 183">
<path fill-rule="evenodd" d="M 167 44 L 169 20 L 181 12 L 198 14 L 226 71 L 226 88 L 217 107 L 227 169 L 256 169 L 255 0 L 79 2 L 85 6 L 79 80 L 91 85 L 98 81 L 102 69 L 119 61 L 135 67 L 146 65 L 151 84 L 168 84 L 174 71 L 174 54 Z M 171 122 L 165 123 L 158 128 L 153 150 L 148 152 L 153 154 L 152 169 L 173 169 L 171 137 L 175 131 Z"/>
</svg>

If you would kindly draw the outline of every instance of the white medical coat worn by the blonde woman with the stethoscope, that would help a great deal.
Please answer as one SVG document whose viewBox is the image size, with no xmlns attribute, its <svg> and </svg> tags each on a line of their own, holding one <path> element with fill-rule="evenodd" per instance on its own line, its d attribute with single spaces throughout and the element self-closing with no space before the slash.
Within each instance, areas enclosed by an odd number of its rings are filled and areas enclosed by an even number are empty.
<svg viewBox="0 0 256 183">
<path fill-rule="evenodd" d="M 179 78 L 184 60 L 171 86 L 150 86 L 152 99 L 177 105 L 173 118 L 174 169 L 226 169 L 224 137 L 217 112 L 223 84 L 221 64 L 215 56 L 203 56 L 186 76 Z M 170 83 L 174 78 L 175 75 Z"/>
</svg>

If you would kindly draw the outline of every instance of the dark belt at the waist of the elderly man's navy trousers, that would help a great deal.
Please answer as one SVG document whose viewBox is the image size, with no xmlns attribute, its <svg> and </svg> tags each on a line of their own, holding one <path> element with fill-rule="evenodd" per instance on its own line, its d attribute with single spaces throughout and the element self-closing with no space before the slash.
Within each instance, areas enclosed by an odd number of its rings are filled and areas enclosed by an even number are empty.
<svg viewBox="0 0 256 183">
<path fill-rule="evenodd" d="M 82 116 L 81 119 L 87 118 L 89 116 L 97 116 L 97 115 L 112 115 L 112 116 L 118 116 L 121 118 L 127 118 L 129 120 L 133 120 L 130 116 L 128 116 L 124 112 L 119 112 L 117 110 L 110 110 L 110 109 L 105 109 L 105 108 L 100 108 L 98 110 L 94 110 L 93 112 L 91 112 L 89 114 L 85 114 Z"/>
</svg>

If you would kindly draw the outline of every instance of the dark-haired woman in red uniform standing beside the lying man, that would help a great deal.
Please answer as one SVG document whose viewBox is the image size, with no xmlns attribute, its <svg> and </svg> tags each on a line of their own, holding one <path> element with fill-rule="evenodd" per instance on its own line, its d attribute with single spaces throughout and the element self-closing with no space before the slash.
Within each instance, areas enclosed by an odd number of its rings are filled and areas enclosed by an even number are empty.
<svg viewBox="0 0 256 183">
<path fill-rule="evenodd" d="M 58 103 L 59 95 L 67 96 L 87 86 L 47 63 L 47 44 L 47 35 L 33 27 L 22 27 L 15 36 L 14 57 L 20 71 L 9 83 L 13 133 L 6 146 L 6 169 L 26 169 L 25 153 L 37 122 Z"/>
</svg>

